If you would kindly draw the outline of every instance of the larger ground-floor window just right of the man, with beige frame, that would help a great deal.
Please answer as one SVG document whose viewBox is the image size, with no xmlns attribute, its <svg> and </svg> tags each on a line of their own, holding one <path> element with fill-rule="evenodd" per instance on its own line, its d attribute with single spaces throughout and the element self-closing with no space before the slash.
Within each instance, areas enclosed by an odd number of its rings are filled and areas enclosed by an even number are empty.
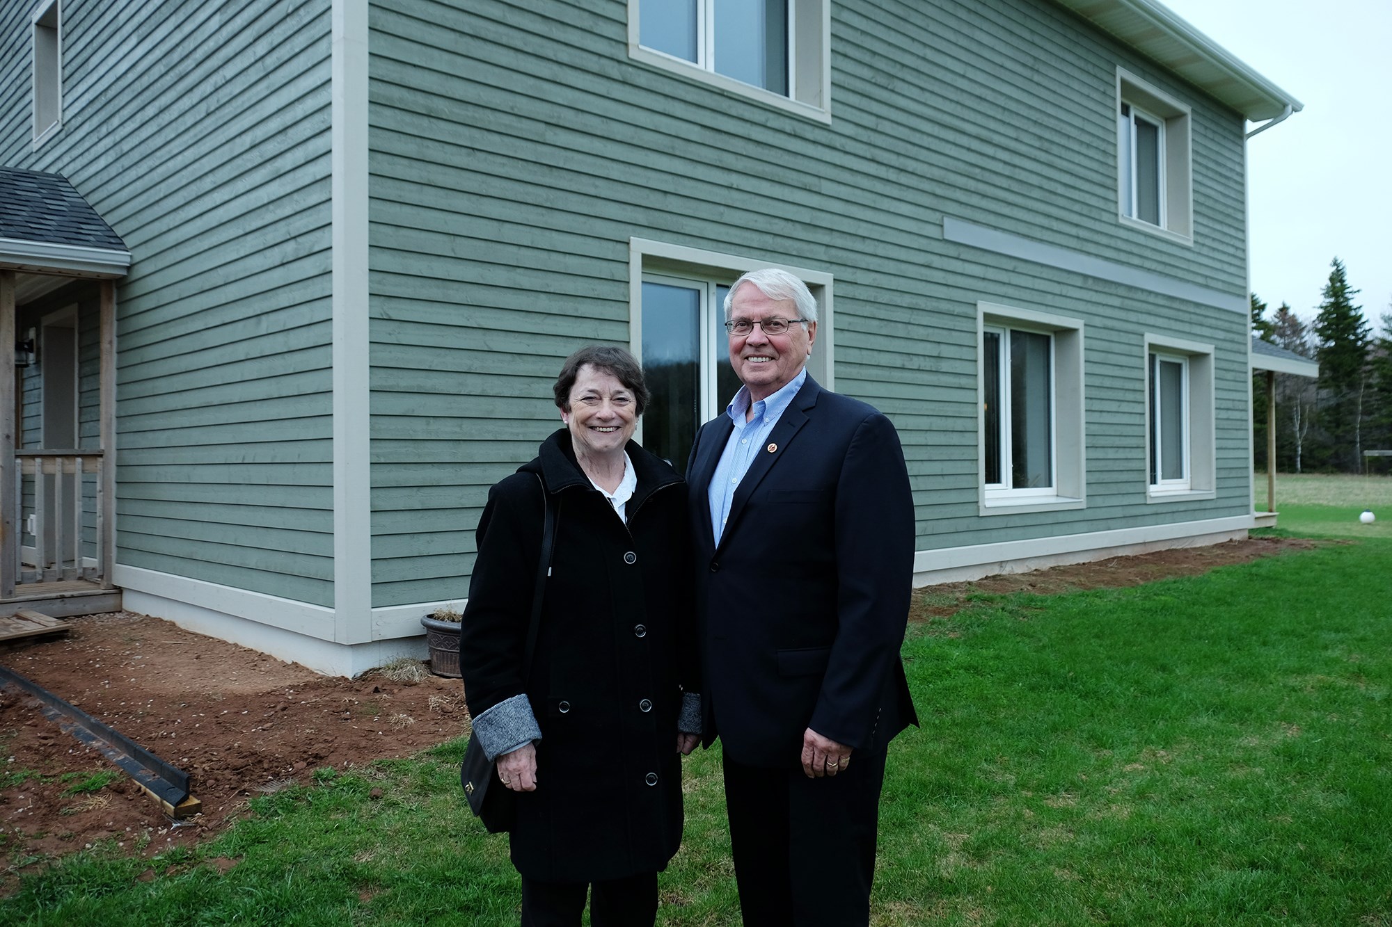
<svg viewBox="0 0 1392 927">
<path fill-rule="evenodd" d="M 981 514 L 1083 505 L 1083 323 L 979 303 Z"/>
</svg>

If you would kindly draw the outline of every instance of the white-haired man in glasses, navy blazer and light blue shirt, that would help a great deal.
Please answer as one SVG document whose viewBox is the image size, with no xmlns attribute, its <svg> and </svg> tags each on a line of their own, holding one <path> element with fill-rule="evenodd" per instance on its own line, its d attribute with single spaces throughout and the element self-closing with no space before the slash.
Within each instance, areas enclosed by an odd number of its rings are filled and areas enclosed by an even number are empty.
<svg viewBox="0 0 1392 927">
<path fill-rule="evenodd" d="M 913 498 L 887 418 L 807 376 L 817 302 L 782 270 L 725 299 L 743 381 L 696 436 L 703 738 L 724 750 L 748 927 L 867 924 L 885 747 L 917 724 L 899 661 Z"/>
</svg>

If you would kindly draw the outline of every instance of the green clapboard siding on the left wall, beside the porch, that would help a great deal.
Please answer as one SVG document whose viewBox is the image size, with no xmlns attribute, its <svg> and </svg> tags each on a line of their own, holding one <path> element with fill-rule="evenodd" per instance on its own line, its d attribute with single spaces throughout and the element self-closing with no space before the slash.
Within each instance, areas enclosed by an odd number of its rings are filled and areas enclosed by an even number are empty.
<svg viewBox="0 0 1392 927">
<path fill-rule="evenodd" d="M 329 1 L 64 3 L 63 128 L 38 150 L 31 7 L 0 10 L 0 163 L 65 175 L 135 259 L 118 562 L 333 604 Z M 92 294 L 79 333 L 96 444 Z M 22 397 L 31 445 L 36 372 Z"/>
</svg>

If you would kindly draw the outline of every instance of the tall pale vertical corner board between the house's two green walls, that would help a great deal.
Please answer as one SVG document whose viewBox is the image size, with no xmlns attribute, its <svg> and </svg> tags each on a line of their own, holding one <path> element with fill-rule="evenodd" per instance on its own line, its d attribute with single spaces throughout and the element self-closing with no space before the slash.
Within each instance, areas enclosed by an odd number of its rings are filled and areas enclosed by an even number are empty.
<svg viewBox="0 0 1392 927">
<path fill-rule="evenodd" d="M 367 0 L 333 0 L 334 640 L 372 635 Z"/>
</svg>

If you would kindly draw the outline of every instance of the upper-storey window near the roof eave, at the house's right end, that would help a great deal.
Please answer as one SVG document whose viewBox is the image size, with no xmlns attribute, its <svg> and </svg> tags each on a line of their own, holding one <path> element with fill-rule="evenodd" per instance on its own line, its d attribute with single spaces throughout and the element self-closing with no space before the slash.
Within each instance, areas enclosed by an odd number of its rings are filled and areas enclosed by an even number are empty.
<svg viewBox="0 0 1392 927">
<path fill-rule="evenodd" d="M 1122 221 L 1190 241 L 1189 109 L 1118 71 L 1116 168 Z"/>
</svg>

